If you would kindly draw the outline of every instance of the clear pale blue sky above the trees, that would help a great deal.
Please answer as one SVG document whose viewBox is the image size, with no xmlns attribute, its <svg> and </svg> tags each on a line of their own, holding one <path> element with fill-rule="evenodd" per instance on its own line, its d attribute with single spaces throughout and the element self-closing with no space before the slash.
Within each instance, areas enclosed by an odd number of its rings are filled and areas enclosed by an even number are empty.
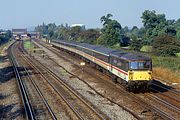
<svg viewBox="0 0 180 120">
<path fill-rule="evenodd" d="M 102 27 L 100 18 L 108 13 L 123 27 L 142 27 L 144 10 L 180 18 L 180 0 L 0 0 L 0 29 L 26 28 L 43 22 L 85 24 Z"/>
</svg>

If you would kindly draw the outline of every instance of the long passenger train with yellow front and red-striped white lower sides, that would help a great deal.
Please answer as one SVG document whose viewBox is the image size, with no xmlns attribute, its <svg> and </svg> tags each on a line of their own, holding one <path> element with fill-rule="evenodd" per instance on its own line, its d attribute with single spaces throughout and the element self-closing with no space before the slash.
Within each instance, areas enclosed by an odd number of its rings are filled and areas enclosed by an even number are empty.
<svg viewBox="0 0 180 120">
<path fill-rule="evenodd" d="M 122 84 L 128 91 L 149 90 L 152 59 L 147 56 L 64 40 L 52 40 L 50 44 L 108 73 L 114 82 Z"/>
</svg>

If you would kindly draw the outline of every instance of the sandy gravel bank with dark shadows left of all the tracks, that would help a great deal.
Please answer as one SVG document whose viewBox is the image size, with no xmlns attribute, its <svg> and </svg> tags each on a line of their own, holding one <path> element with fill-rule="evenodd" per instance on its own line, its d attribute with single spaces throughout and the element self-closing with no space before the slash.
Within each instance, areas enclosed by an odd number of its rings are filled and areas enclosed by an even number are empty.
<svg viewBox="0 0 180 120">
<path fill-rule="evenodd" d="M 21 97 L 7 57 L 7 47 L 0 51 L 0 120 L 24 120 Z"/>
</svg>

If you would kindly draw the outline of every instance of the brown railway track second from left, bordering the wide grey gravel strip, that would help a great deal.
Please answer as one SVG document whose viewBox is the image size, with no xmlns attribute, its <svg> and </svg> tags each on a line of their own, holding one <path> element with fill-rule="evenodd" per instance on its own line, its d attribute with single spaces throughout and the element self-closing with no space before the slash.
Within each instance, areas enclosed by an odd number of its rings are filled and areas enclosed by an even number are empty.
<svg viewBox="0 0 180 120">
<path fill-rule="evenodd" d="M 24 50 L 22 50 L 24 51 Z M 29 56 L 23 56 L 24 60 L 48 82 L 52 89 L 64 100 L 78 119 L 110 119 L 97 110 L 89 101 L 80 96 L 61 78 L 54 75 L 47 67 Z M 33 63 L 33 64 L 32 64 Z M 45 73 L 45 74 L 44 74 Z"/>
</svg>

